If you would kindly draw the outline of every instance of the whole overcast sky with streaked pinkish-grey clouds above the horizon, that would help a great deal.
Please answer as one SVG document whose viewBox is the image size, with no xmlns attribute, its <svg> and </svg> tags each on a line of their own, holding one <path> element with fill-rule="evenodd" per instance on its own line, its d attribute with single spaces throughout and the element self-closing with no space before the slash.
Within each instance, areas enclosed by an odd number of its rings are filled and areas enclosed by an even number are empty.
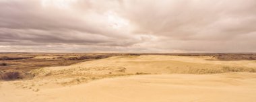
<svg viewBox="0 0 256 102">
<path fill-rule="evenodd" d="M 0 52 L 256 52 L 256 1 L 0 0 Z"/>
</svg>

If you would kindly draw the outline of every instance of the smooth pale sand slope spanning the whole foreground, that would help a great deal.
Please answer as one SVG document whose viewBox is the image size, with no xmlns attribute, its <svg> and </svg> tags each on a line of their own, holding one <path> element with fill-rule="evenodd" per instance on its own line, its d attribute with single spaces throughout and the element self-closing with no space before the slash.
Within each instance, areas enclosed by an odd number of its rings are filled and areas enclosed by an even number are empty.
<svg viewBox="0 0 256 102">
<path fill-rule="evenodd" d="M 38 92 L 2 82 L 0 101 L 256 101 L 256 74 L 156 74 L 117 77 Z"/>
</svg>

